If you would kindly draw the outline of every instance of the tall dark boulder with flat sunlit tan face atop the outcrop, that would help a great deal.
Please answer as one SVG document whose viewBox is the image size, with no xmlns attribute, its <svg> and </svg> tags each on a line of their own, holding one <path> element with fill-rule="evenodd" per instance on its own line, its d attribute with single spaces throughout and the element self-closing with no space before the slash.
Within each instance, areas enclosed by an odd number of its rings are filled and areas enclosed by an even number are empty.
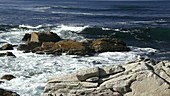
<svg viewBox="0 0 170 96">
<path fill-rule="evenodd" d="M 61 38 L 53 32 L 33 32 L 31 33 L 29 42 L 58 42 L 60 40 Z"/>
</svg>

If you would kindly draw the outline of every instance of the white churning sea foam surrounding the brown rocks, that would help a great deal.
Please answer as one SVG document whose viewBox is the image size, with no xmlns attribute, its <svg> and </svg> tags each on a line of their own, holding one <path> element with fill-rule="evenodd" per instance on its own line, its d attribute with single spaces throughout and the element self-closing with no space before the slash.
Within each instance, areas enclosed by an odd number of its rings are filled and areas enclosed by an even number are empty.
<svg viewBox="0 0 170 96">
<path fill-rule="evenodd" d="M 25 25 L 22 26 L 25 27 Z M 77 32 L 80 32 L 86 27 L 88 26 L 61 25 L 52 28 L 51 31 L 59 34 L 62 38 L 81 41 L 85 38 L 79 36 Z M 29 27 L 27 26 L 27 28 Z M 0 40 L 11 42 L 12 44 L 19 44 L 24 34 L 31 33 L 32 31 L 32 27 L 28 30 L 11 30 L 10 32 L 1 33 Z M 0 57 L 0 77 L 5 74 L 12 74 L 16 76 L 16 78 L 0 84 L 0 88 L 16 91 L 21 96 L 41 96 L 47 80 L 54 75 L 69 74 L 81 68 L 124 64 L 129 61 L 134 61 L 139 55 L 157 51 L 152 48 L 131 47 L 131 49 L 132 51 L 130 52 L 104 52 L 90 57 L 65 54 L 61 56 L 37 55 L 35 53 L 23 53 L 16 49 L 7 50 L 13 52 L 16 58 Z"/>
</svg>

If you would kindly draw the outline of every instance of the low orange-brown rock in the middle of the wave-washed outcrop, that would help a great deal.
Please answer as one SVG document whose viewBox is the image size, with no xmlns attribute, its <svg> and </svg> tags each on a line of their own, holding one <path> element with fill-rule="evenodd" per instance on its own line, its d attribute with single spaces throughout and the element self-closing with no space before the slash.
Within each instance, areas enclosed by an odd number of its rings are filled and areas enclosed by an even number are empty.
<svg viewBox="0 0 170 96">
<path fill-rule="evenodd" d="M 68 55 L 87 55 L 89 48 L 82 42 L 62 40 L 59 42 L 43 42 L 40 51 L 52 54 L 66 53 Z"/>
</svg>

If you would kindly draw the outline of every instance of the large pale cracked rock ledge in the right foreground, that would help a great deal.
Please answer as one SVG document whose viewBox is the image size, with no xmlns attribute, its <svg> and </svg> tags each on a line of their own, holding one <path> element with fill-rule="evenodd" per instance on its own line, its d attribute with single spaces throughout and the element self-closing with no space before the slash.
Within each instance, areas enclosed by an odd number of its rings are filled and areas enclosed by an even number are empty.
<svg viewBox="0 0 170 96">
<path fill-rule="evenodd" d="M 170 96 L 170 62 L 137 60 L 56 76 L 43 96 Z"/>
</svg>

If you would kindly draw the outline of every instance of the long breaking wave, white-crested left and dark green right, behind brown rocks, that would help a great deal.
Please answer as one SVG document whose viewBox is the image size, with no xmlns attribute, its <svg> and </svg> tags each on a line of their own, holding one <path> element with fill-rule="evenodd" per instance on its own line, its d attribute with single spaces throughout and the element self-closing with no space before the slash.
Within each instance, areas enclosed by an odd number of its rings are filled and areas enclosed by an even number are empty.
<svg viewBox="0 0 170 96">
<path fill-rule="evenodd" d="M 154 21 L 158 22 L 158 21 Z M 165 21 L 160 21 L 165 22 Z M 116 22 L 115 22 L 116 23 Z M 117 22 L 118 23 L 118 22 Z M 123 24 L 126 24 L 124 22 Z M 148 21 L 135 21 L 135 23 L 150 23 Z M 153 23 L 153 21 L 151 21 Z M 127 25 L 127 24 L 126 24 Z M 0 25 L 0 34 L 8 40 L 6 32 L 24 32 L 33 31 L 53 31 L 58 33 L 61 37 L 71 38 L 101 38 L 101 37 L 114 37 L 123 40 L 137 40 L 137 41 L 170 41 L 170 28 L 166 27 L 132 27 L 132 28 L 108 28 L 108 27 L 93 27 L 93 26 L 76 26 L 76 25 Z M 15 33 L 9 33 L 15 34 Z M 18 34 L 18 33 L 17 33 Z M 80 36 L 81 35 L 81 36 Z M 73 36 L 73 37 L 71 37 Z M 83 36 L 83 37 L 82 37 Z M 3 39 L 4 37 L 1 37 Z M 16 38 L 15 38 L 16 39 Z M 3 40 L 3 41 L 4 41 Z M 15 41 L 15 40 L 14 40 Z"/>
</svg>

